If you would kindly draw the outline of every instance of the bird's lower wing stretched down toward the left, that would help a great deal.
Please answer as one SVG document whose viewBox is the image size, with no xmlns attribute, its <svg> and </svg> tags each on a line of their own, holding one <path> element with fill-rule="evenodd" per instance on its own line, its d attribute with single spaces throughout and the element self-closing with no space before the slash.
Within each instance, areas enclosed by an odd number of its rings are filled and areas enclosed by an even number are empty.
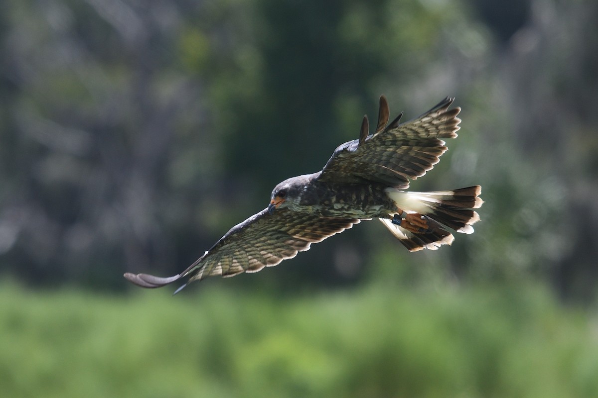
<svg viewBox="0 0 598 398">
<path fill-rule="evenodd" d="M 278 209 L 264 209 L 234 226 L 215 245 L 182 273 L 172 277 L 126 273 L 124 277 L 144 288 L 158 288 L 188 277 L 188 282 L 208 276 L 234 276 L 276 266 L 312 243 L 322 242 L 335 233 L 359 223 L 357 218 L 316 217 Z"/>
</svg>

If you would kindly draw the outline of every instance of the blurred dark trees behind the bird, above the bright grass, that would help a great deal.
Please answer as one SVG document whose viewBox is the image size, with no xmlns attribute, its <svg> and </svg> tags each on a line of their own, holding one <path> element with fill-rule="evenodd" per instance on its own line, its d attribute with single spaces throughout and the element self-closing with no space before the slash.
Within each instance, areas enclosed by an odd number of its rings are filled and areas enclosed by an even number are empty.
<svg viewBox="0 0 598 398">
<path fill-rule="evenodd" d="M 114 288 L 173 273 L 321 169 L 380 94 L 409 115 L 450 95 L 462 138 L 416 187 L 480 183 L 488 204 L 432 261 L 591 295 L 598 5 L 490 3 L 3 2 L 2 271 Z M 381 235 L 353 229 L 260 283 L 400 277 L 413 261 Z"/>
</svg>

